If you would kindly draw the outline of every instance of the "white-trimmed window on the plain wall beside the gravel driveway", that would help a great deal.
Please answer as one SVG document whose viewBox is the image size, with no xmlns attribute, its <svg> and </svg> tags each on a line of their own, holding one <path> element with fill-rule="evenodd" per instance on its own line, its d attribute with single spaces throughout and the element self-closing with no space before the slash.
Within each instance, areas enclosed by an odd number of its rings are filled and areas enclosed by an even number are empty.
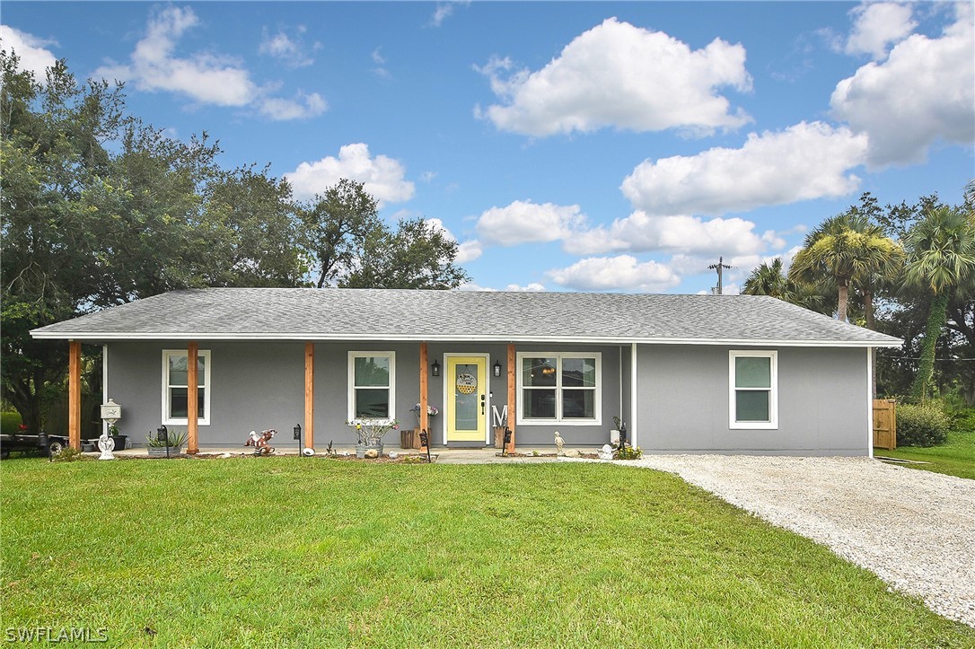
<svg viewBox="0 0 975 649">
<path fill-rule="evenodd" d="M 729 352 L 728 384 L 730 428 L 779 427 L 778 352 Z"/>
</svg>

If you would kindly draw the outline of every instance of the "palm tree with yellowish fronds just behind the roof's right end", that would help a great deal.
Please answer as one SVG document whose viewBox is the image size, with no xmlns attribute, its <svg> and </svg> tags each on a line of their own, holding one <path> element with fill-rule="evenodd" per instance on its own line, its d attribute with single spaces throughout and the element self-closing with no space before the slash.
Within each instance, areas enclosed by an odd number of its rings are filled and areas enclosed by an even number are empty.
<svg viewBox="0 0 975 649">
<path fill-rule="evenodd" d="M 825 278 L 834 280 L 840 321 L 846 321 L 850 286 L 869 286 L 867 311 L 872 321 L 875 278 L 890 274 L 903 255 L 901 247 L 885 237 L 880 226 L 867 216 L 848 210 L 827 218 L 806 235 L 803 248 L 789 269 L 789 278 L 810 283 Z"/>
</svg>

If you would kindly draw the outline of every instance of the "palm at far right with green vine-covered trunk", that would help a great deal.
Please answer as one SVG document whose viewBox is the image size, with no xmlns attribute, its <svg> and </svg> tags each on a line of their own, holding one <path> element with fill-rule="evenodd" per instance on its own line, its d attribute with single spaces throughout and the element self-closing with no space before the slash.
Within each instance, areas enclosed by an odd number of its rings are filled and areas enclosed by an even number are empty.
<svg viewBox="0 0 975 649">
<path fill-rule="evenodd" d="M 975 214 L 939 207 L 917 221 L 905 240 L 909 284 L 929 289 L 933 295 L 921 342 L 917 375 L 911 394 L 923 401 L 934 374 L 934 351 L 948 319 L 952 291 L 975 281 Z"/>
</svg>

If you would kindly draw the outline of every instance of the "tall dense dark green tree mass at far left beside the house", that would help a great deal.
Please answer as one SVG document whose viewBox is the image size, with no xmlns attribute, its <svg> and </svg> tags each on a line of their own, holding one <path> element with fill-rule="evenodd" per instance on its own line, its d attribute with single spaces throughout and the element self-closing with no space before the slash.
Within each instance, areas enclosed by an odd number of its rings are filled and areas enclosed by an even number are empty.
<svg viewBox="0 0 975 649">
<path fill-rule="evenodd" d="M 120 85 L 19 63 L 0 50 L 0 385 L 37 431 L 67 354 L 32 328 L 188 286 L 298 286 L 305 269 L 287 182 L 220 172 L 206 134 L 143 125 Z"/>
</svg>

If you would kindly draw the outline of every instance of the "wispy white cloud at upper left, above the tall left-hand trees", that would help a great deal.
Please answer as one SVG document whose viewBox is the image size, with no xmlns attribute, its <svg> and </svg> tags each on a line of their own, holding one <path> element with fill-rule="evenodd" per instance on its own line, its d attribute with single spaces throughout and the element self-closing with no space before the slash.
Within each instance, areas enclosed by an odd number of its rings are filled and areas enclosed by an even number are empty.
<svg viewBox="0 0 975 649">
<path fill-rule="evenodd" d="M 209 52 L 190 57 L 177 57 L 176 44 L 183 34 L 199 24 L 190 7 L 166 7 L 153 11 L 145 35 L 136 44 L 129 64 L 99 67 L 95 75 L 131 82 L 140 91 L 165 91 L 186 95 L 200 103 L 217 106 L 252 106 L 273 120 L 292 120 L 322 114 L 328 104 L 318 93 L 298 93 L 287 99 L 270 96 L 274 86 L 260 87 L 250 71 L 239 61 Z M 266 54 L 291 57 L 293 43 L 284 38 L 271 38 L 261 45 Z M 291 45 L 289 45 L 291 44 Z M 289 53 L 292 54 L 289 54 Z M 300 58 L 293 58 L 299 63 Z M 302 63 L 303 64 L 303 63 Z"/>
</svg>

